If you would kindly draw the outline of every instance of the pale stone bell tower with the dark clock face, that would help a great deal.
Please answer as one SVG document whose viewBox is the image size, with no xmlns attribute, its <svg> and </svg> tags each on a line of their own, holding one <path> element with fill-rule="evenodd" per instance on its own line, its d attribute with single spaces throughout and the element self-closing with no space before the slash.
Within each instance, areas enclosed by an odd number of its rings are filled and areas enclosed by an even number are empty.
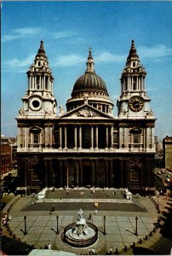
<svg viewBox="0 0 172 256">
<path fill-rule="evenodd" d="M 118 117 L 145 118 L 152 113 L 146 95 L 146 70 L 140 64 L 139 56 L 132 40 L 129 56 L 121 76 L 121 96 L 118 99 Z"/>
</svg>

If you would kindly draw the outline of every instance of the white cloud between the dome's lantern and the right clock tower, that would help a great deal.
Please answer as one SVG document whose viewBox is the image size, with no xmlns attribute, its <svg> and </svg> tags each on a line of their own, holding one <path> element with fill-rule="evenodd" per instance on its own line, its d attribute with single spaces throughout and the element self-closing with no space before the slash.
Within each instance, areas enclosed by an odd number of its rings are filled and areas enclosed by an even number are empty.
<svg viewBox="0 0 172 256">
<path fill-rule="evenodd" d="M 102 52 L 99 55 L 95 55 L 95 61 L 98 62 L 108 62 L 108 63 L 119 63 L 126 59 L 125 55 L 112 55 L 109 52 Z"/>
</svg>

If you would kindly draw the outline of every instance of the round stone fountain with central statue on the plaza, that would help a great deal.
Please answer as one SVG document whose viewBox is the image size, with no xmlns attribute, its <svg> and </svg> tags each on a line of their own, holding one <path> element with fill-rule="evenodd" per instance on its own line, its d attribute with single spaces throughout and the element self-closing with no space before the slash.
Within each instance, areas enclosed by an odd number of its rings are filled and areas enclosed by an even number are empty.
<svg viewBox="0 0 172 256">
<path fill-rule="evenodd" d="M 86 223 L 83 210 L 80 209 L 76 223 L 66 226 L 62 235 L 63 241 L 72 247 L 89 247 L 98 237 L 98 229 L 94 224 Z"/>
</svg>

